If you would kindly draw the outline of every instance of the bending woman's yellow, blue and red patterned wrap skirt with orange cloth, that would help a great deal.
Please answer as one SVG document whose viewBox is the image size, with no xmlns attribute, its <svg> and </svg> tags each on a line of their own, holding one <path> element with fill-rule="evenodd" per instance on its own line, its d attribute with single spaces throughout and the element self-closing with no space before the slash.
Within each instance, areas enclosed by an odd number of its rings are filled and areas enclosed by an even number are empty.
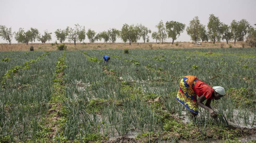
<svg viewBox="0 0 256 143">
<path fill-rule="evenodd" d="M 198 105 L 196 103 L 197 97 L 193 87 L 197 80 L 195 76 L 183 77 L 179 83 L 179 91 L 176 97 L 179 103 L 195 114 L 198 114 Z"/>
</svg>

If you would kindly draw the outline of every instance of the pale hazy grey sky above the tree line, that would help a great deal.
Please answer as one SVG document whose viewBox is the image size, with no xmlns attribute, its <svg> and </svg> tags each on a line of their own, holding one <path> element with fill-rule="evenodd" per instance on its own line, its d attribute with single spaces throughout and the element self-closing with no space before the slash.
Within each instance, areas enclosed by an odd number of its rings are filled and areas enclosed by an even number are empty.
<svg viewBox="0 0 256 143">
<path fill-rule="evenodd" d="M 161 19 L 164 23 L 178 21 L 187 27 L 189 21 L 198 16 L 201 23 L 207 25 L 213 13 L 226 24 L 233 19 L 246 19 L 253 25 L 256 23 L 255 8 L 256 0 L 0 0 L 0 25 L 12 27 L 13 32 L 33 27 L 43 33 L 47 29 L 53 33 L 52 41 L 47 43 L 52 43 L 56 40 L 56 29 L 74 27 L 77 23 L 85 26 L 86 31 L 91 28 L 97 33 L 109 28 L 120 30 L 124 23 L 138 23 L 157 31 L 155 25 Z M 171 41 L 171 38 L 166 40 Z M 184 30 L 176 41 L 191 40 Z M 89 42 L 87 36 L 84 42 Z M 117 42 L 122 41 L 118 39 Z M 150 42 L 155 42 L 151 34 Z M 7 42 L 0 38 L 0 43 Z M 12 43 L 17 43 L 14 36 Z"/>
</svg>

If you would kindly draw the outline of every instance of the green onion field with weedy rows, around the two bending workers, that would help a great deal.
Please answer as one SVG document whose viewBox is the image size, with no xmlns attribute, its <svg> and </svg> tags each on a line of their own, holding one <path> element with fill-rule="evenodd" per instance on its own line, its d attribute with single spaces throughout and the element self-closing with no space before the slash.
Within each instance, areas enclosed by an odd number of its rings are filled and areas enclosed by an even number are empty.
<svg viewBox="0 0 256 143">
<path fill-rule="evenodd" d="M 255 48 L 10 51 L 0 60 L 0 142 L 240 142 L 256 134 Z M 211 104 L 217 119 L 200 107 L 190 119 L 177 102 L 186 75 L 225 88 Z"/>
</svg>

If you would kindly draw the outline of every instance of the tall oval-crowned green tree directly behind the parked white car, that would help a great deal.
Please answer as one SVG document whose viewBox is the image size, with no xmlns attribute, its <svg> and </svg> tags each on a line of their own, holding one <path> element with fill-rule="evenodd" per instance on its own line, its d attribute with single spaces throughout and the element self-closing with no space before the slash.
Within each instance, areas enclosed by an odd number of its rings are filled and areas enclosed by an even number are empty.
<svg viewBox="0 0 256 143">
<path fill-rule="evenodd" d="M 196 16 L 190 22 L 186 31 L 190 36 L 191 40 L 197 42 L 200 40 L 200 31 L 202 30 L 202 24 L 200 24 L 199 18 Z"/>
</svg>

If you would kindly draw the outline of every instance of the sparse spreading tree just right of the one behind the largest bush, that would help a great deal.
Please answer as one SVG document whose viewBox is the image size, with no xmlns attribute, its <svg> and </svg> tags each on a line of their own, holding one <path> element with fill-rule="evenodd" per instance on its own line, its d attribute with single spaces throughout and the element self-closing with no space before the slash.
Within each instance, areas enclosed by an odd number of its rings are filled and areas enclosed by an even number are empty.
<svg viewBox="0 0 256 143">
<path fill-rule="evenodd" d="M 67 32 L 67 38 L 69 41 L 74 41 L 74 44 L 78 40 L 78 35 L 80 32 L 85 31 L 84 26 L 80 26 L 79 24 L 75 24 L 75 28 L 67 27 L 66 32 Z"/>
</svg>

